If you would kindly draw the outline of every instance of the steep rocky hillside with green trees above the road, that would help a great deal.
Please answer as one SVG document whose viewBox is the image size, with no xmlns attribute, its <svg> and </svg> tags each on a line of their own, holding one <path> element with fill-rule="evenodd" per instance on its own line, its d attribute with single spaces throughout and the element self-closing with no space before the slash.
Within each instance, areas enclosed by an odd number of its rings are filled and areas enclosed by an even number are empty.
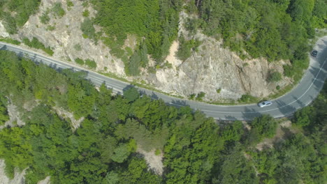
<svg viewBox="0 0 327 184">
<path fill-rule="evenodd" d="M 263 2 L 43 0 L 16 31 L 2 18 L 0 36 L 184 98 L 264 98 L 300 78 L 307 39 L 326 26 L 326 5 Z M 298 8 L 306 9 L 298 15 Z M 20 9 L 6 10 L 15 20 Z"/>
</svg>

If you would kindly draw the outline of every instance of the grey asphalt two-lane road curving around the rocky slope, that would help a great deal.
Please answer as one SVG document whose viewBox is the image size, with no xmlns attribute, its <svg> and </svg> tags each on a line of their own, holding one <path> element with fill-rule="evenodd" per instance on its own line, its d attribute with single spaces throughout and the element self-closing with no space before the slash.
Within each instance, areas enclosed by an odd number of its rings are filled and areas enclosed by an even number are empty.
<svg viewBox="0 0 327 184">
<path fill-rule="evenodd" d="M 16 52 L 20 56 L 27 56 L 33 61 L 45 63 L 53 68 L 72 68 L 73 70 L 87 71 L 87 78 L 90 79 L 96 86 L 100 86 L 105 82 L 108 88 L 111 88 L 115 93 L 122 93 L 123 90 L 128 89 L 131 85 L 126 82 L 119 81 L 100 75 L 96 72 L 80 68 L 74 63 L 68 63 L 59 61 L 50 56 L 44 56 L 37 52 L 33 52 L 29 49 L 17 47 L 16 45 L 10 45 L 8 43 L 0 42 L 0 49 L 6 49 Z M 192 100 L 184 100 L 180 98 L 173 98 L 162 93 L 150 91 L 143 88 L 138 88 L 141 93 L 150 95 L 155 99 L 163 99 L 167 104 L 176 107 L 188 105 L 192 109 L 201 110 L 207 116 L 213 117 L 217 120 L 252 120 L 256 116 L 262 114 L 270 114 L 275 118 L 281 118 L 284 116 L 291 116 L 297 109 L 309 105 L 314 98 L 317 97 L 319 91 L 324 86 L 324 81 L 327 77 L 327 36 L 321 38 L 314 49 L 318 51 L 316 58 L 310 56 L 310 67 L 305 72 L 303 79 L 292 91 L 283 95 L 280 98 L 271 100 L 273 105 L 270 107 L 258 107 L 256 104 L 252 105 L 210 105 L 203 102 L 196 102 Z"/>
</svg>

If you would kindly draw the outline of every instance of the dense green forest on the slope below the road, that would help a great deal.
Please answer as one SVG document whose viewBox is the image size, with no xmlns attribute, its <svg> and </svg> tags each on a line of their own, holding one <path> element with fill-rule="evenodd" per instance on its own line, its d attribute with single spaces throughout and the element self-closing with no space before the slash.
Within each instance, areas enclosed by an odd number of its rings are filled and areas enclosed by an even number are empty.
<svg viewBox="0 0 327 184">
<path fill-rule="evenodd" d="M 268 115 L 245 128 L 215 122 L 189 107 L 167 106 L 131 87 L 99 90 L 84 72 L 54 70 L 0 51 L 0 123 L 17 106 L 25 125 L 0 130 L 6 174 L 27 169 L 26 183 L 324 183 L 327 180 L 327 85 L 271 147 L 279 123 Z M 29 104 L 29 108 L 27 108 Z M 84 117 L 77 130 L 54 107 Z M 136 150 L 163 154 L 162 176 Z"/>
</svg>

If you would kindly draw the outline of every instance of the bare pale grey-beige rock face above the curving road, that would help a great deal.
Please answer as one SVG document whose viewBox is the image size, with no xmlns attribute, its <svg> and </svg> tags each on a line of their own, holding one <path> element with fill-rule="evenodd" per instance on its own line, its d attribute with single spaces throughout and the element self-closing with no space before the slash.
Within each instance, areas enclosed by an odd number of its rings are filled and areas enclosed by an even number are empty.
<svg viewBox="0 0 327 184">
<path fill-rule="evenodd" d="M 43 0 L 39 12 L 32 15 L 29 21 L 20 29 L 19 33 L 11 38 L 22 40 L 22 38 L 36 37 L 41 40 L 45 46 L 50 46 L 54 50 L 54 57 L 64 61 L 73 61 L 76 58 L 92 59 L 96 61 L 97 71 L 112 72 L 120 77 L 126 77 L 124 74 L 124 63 L 110 54 L 110 48 L 106 47 L 101 40 L 96 45 L 93 40 L 82 37 L 80 23 L 83 22 L 83 10 L 89 10 L 90 16 L 95 15 L 92 6 L 83 7 L 82 2 L 72 0 L 74 6 L 67 10 L 65 0 Z M 51 8 L 55 2 L 61 2 L 66 11 L 64 17 L 54 17 L 50 15 L 49 24 L 40 22 L 41 15 Z M 187 35 L 183 29 L 183 22 L 188 15 L 184 12 L 180 14 L 180 33 Z M 53 31 L 47 27 L 55 26 Z M 1 30 L 0 24 L 0 30 Z M 96 27 L 97 30 L 101 29 Z M 6 36 L 6 33 L 1 33 Z M 205 92 L 203 100 L 224 101 L 226 99 L 236 100 L 241 95 L 249 93 L 257 97 L 265 97 L 274 93 L 276 86 L 281 88 L 291 82 L 290 79 L 282 79 L 276 84 L 266 82 L 270 70 L 282 72 L 282 61 L 268 63 L 264 59 L 254 59 L 251 61 L 242 61 L 235 53 L 221 46 L 221 41 L 215 40 L 196 33 L 194 38 L 202 40 L 198 52 L 182 62 L 175 58 L 177 51 L 177 42 L 170 48 L 170 55 L 166 58 L 172 68 L 162 68 L 153 74 L 142 70 L 141 77 L 126 77 L 131 81 L 144 81 L 147 84 L 155 86 L 157 89 L 174 95 L 187 97 L 192 93 Z M 130 36 L 126 43 L 131 43 L 133 37 Z M 135 44 L 135 43 L 134 43 Z M 75 45 L 80 45 L 80 50 L 75 49 Z M 129 45 L 133 48 L 133 45 Z M 153 63 L 153 61 L 150 63 Z M 221 89 L 217 93 L 217 89 Z"/>
</svg>

